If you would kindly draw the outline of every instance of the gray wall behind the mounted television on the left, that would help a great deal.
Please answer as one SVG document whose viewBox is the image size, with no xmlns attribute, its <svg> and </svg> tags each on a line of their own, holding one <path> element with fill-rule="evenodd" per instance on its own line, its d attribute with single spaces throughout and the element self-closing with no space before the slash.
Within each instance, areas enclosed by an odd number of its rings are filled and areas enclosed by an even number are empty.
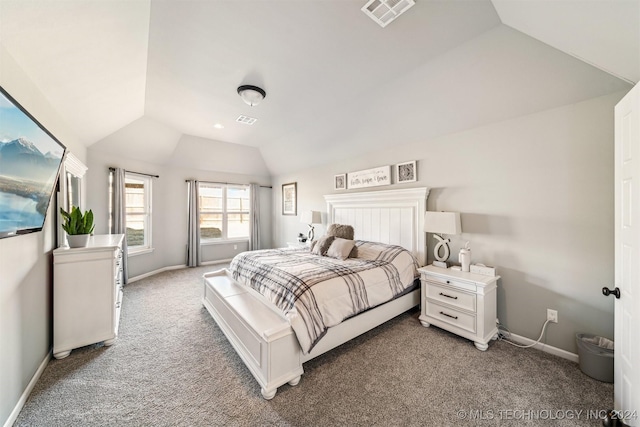
<svg viewBox="0 0 640 427">
<path fill-rule="evenodd" d="M 86 149 L 0 45 L 0 85 L 80 160 Z M 0 240 L 0 424 L 48 357 L 52 338 L 56 196 L 42 232 Z"/>
</svg>

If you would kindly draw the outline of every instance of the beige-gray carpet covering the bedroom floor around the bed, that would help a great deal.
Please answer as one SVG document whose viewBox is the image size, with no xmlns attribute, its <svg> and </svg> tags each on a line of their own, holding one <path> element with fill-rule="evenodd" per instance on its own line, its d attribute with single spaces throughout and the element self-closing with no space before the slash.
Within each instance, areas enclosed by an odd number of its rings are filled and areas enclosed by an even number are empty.
<svg viewBox="0 0 640 427">
<path fill-rule="evenodd" d="M 16 426 L 600 425 L 613 386 L 537 350 L 473 343 L 412 311 L 304 365 L 271 401 L 200 302 L 201 276 L 125 289 L 112 347 L 52 360 Z"/>
</svg>

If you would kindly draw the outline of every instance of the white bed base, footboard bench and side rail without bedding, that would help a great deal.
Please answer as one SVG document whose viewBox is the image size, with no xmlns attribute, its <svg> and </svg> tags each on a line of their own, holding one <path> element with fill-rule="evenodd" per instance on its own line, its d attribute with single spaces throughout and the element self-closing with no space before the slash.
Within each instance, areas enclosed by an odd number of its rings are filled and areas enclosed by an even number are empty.
<svg viewBox="0 0 640 427">
<path fill-rule="evenodd" d="M 303 354 L 289 321 L 262 296 L 238 285 L 228 270 L 204 275 L 202 304 L 272 399 L 278 387 L 300 382 L 302 364 L 363 334 L 420 303 L 420 288 L 330 328 L 309 354 Z"/>
</svg>

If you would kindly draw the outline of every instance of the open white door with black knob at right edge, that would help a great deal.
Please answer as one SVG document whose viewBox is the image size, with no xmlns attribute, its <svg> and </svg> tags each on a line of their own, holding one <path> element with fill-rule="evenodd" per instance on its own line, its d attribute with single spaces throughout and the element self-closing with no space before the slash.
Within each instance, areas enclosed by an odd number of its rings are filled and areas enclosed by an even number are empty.
<svg viewBox="0 0 640 427">
<path fill-rule="evenodd" d="M 615 410 L 640 426 L 640 85 L 615 108 L 615 287 Z"/>
</svg>

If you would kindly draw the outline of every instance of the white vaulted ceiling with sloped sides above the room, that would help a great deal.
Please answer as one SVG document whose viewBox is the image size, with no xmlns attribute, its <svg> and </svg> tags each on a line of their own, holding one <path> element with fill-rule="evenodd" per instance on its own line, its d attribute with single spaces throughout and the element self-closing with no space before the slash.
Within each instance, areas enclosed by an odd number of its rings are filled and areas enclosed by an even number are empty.
<svg viewBox="0 0 640 427">
<path fill-rule="evenodd" d="M 386 28 L 364 3 L 2 0 L 0 43 L 90 148 L 265 175 L 640 80 L 640 0 L 416 0 Z"/>
</svg>

